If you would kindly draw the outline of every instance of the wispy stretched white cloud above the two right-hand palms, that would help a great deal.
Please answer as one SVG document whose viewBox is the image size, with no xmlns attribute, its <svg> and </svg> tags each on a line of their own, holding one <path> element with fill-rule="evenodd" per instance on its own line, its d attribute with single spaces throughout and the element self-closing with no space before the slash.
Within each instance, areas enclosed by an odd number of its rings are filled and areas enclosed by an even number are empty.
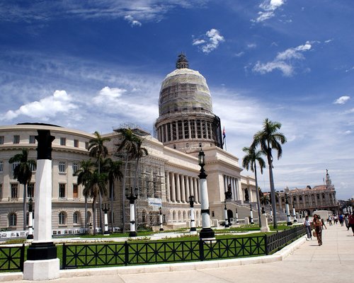
<svg viewBox="0 0 354 283">
<path fill-rule="evenodd" d="M 296 60 L 304 59 L 303 52 L 311 50 L 312 45 L 306 42 L 304 45 L 288 48 L 283 52 L 279 52 L 272 62 L 257 62 L 253 67 L 253 71 L 266 74 L 275 69 L 282 71 L 284 76 L 292 76 L 294 74 L 294 64 Z"/>
</svg>

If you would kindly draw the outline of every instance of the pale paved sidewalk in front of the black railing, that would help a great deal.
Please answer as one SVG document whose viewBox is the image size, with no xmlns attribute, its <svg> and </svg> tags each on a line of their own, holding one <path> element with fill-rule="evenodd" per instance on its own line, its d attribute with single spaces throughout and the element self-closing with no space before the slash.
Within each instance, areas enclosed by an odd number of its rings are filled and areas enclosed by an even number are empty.
<svg viewBox="0 0 354 283">
<path fill-rule="evenodd" d="M 97 268 L 80 270 L 79 273 L 79 270 L 62 270 L 61 278 L 42 282 L 352 282 L 354 278 L 353 233 L 339 224 L 327 226 L 327 228 L 323 232 L 323 246 L 318 246 L 316 239 L 305 241 L 304 238 L 301 238 L 275 255 L 258 258 L 187 262 L 174 265 Z M 1 275 L 0 281 L 4 281 L 4 278 L 1 280 Z M 29 281 L 16 280 L 16 282 L 28 283 Z"/>
</svg>

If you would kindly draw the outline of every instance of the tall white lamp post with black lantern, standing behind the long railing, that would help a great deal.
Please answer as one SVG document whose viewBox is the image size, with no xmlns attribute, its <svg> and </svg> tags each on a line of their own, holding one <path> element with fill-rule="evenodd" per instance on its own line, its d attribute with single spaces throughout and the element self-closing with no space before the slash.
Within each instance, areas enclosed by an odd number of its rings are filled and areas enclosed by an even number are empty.
<svg viewBox="0 0 354 283">
<path fill-rule="evenodd" d="M 200 230 L 199 238 L 215 239 L 215 233 L 210 227 L 210 208 L 209 199 L 207 196 L 207 174 L 205 173 L 205 154 L 200 149 L 198 154 L 198 163 L 200 166 L 199 185 L 200 185 L 200 211 L 202 213 L 202 230 Z"/>
</svg>

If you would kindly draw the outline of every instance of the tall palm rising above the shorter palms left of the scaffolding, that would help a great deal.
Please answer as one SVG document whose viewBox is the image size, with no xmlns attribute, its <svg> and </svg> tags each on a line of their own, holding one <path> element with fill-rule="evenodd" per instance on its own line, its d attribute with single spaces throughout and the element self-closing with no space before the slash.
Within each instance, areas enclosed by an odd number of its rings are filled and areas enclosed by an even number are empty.
<svg viewBox="0 0 354 283">
<path fill-rule="evenodd" d="M 93 133 L 95 137 L 93 139 L 89 140 L 89 148 L 88 150 L 90 151 L 90 156 L 96 157 L 97 158 L 97 163 L 98 163 L 98 174 L 101 173 L 101 160 L 102 158 L 105 158 L 105 156 L 108 155 L 108 149 L 104 145 L 105 142 L 110 141 L 110 138 L 108 137 L 102 137 L 99 132 L 94 132 Z M 102 195 L 98 195 L 99 197 L 99 204 L 101 207 L 102 204 Z M 102 221 L 102 212 L 101 208 L 99 209 L 99 215 L 100 215 L 100 226 L 103 231 L 103 221 Z"/>
</svg>

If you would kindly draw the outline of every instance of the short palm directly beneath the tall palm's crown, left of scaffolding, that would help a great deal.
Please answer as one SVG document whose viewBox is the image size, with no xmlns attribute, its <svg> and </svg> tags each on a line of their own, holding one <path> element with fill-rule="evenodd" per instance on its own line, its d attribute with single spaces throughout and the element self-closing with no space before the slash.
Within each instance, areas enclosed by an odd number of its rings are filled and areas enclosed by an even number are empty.
<svg viewBox="0 0 354 283">
<path fill-rule="evenodd" d="M 86 181 L 84 188 L 84 196 L 92 198 L 93 212 L 93 234 L 96 235 L 96 199 L 100 195 L 107 195 L 107 173 L 98 173 L 98 170 L 93 171 L 89 180 Z M 101 211 L 101 209 L 100 209 Z"/>
</svg>

